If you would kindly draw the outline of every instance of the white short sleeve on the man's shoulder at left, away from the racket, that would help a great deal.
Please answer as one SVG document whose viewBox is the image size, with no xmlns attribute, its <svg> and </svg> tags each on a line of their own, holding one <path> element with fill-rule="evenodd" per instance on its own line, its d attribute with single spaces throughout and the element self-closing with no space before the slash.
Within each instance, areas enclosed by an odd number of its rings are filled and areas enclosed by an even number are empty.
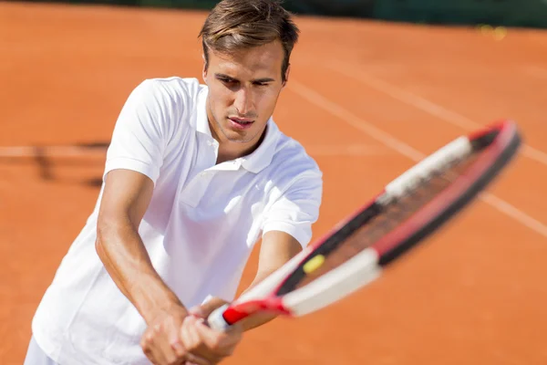
<svg viewBox="0 0 547 365">
<path fill-rule="evenodd" d="M 169 108 L 161 91 L 153 80 L 145 80 L 130 93 L 114 127 L 104 175 L 127 169 L 156 183 L 168 141 Z"/>
</svg>

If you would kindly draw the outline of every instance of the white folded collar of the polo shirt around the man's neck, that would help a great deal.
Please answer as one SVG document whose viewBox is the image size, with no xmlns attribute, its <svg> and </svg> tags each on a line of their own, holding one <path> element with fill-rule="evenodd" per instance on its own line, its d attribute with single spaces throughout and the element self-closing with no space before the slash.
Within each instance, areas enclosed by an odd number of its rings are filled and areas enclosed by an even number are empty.
<svg viewBox="0 0 547 365">
<path fill-rule="evenodd" d="M 209 136 L 212 139 L 209 120 L 207 119 L 207 95 L 209 89 L 206 86 L 200 90 L 197 103 L 197 120 L 196 129 Z M 277 127 L 273 118 L 270 118 L 266 124 L 266 135 L 260 146 L 251 154 L 236 159 L 243 168 L 249 172 L 258 173 L 265 169 L 274 159 L 274 153 L 277 146 L 277 141 L 281 131 Z"/>
</svg>

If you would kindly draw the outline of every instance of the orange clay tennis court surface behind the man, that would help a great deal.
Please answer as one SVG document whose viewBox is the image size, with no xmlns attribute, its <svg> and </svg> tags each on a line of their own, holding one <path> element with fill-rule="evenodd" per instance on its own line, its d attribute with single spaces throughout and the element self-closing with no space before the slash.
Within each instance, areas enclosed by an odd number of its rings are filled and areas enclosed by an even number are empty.
<svg viewBox="0 0 547 365">
<path fill-rule="evenodd" d="M 0 362 L 30 322 L 98 195 L 108 142 L 144 78 L 201 78 L 205 13 L 0 2 Z M 315 237 L 429 152 L 494 120 L 525 145 L 471 209 L 377 282 L 246 335 L 226 364 L 547 363 L 547 31 L 298 17 L 274 119 L 325 173 Z M 248 284 L 255 257 L 245 272 Z"/>
</svg>

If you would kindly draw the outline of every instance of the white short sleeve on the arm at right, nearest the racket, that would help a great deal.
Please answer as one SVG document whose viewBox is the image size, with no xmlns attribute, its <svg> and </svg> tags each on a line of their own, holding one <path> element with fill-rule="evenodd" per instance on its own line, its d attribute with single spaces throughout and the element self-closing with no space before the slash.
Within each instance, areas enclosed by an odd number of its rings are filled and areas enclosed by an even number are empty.
<svg viewBox="0 0 547 365">
<path fill-rule="evenodd" d="M 312 238 L 312 225 L 319 217 L 323 194 L 320 172 L 299 176 L 264 213 L 263 234 L 282 231 L 305 247 Z"/>
</svg>

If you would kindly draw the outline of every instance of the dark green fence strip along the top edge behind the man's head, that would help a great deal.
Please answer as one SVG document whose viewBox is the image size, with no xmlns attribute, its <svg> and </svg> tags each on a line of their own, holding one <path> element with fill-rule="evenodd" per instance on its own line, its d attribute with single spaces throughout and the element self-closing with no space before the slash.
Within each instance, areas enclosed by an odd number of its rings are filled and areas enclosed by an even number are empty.
<svg viewBox="0 0 547 365">
<path fill-rule="evenodd" d="M 211 9 L 218 2 L 216 0 L 57 1 L 192 9 Z M 285 0 L 284 6 L 301 15 L 370 17 L 429 24 L 547 27 L 547 0 Z"/>
</svg>

